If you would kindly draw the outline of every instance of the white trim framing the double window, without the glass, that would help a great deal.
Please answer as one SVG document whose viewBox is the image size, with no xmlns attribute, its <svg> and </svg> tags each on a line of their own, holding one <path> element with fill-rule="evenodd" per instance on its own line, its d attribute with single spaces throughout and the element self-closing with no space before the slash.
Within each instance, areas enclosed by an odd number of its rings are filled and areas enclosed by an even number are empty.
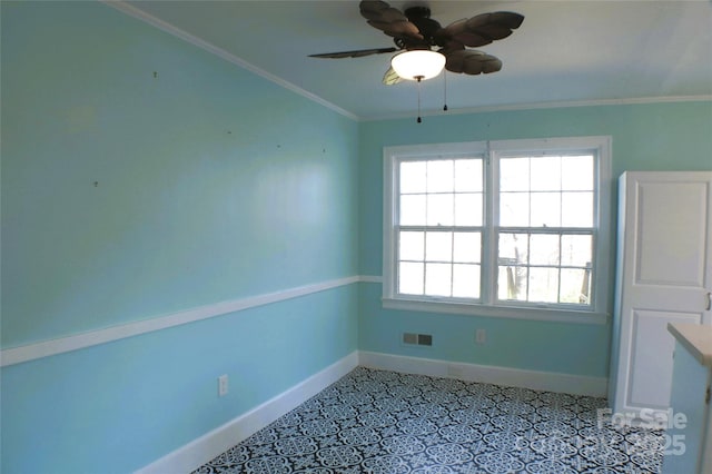
<svg viewBox="0 0 712 474">
<path fill-rule="evenodd" d="M 594 233 L 594 258 L 593 267 L 593 295 L 591 309 L 582 309 L 575 306 L 571 308 L 558 306 L 551 307 L 541 304 L 494 304 L 495 288 L 488 282 L 483 282 L 483 300 L 484 303 L 456 303 L 449 298 L 433 297 L 411 297 L 396 295 L 395 288 L 395 254 L 397 248 L 396 233 L 394 231 L 396 218 L 396 199 L 395 192 L 398 189 L 396 182 L 396 166 L 399 160 L 408 158 L 433 158 L 437 156 L 483 156 L 485 157 L 485 194 L 490 196 L 484 209 L 485 229 L 487 234 L 484 239 L 485 247 L 483 249 L 484 257 L 482 265 L 485 268 L 484 275 L 493 275 L 492 265 L 496 260 L 493 255 L 495 227 L 494 221 L 495 206 L 497 198 L 491 197 L 490 190 L 493 189 L 497 179 L 497 167 L 491 166 L 492 158 L 496 154 L 508 154 L 517 151 L 527 151 L 533 154 L 557 154 L 572 151 L 590 151 L 595 149 L 599 155 L 596 160 L 596 178 L 599 182 L 597 196 L 595 203 L 595 214 L 597 227 Z M 383 306 L 389 309 L 417 310 L 428 313 L 447 313 L 458 315 L 476 315 L 487 317 L 517 318 L 527 320 L 548 320 L 565 322 L 581 324 L 606 324 L 610 319 L 607 308 L 610 307 L 610 298 L 612 293 L 612 283 L 609 282 L 611 260 L 611 218 L 607 213 L 611 209 L 612 192 L 612 171 L 611 171 L 611 137 L 565 137 L 565 138 L 545 138 L 545 139 L 523 139 L 523 140 L 497 140 L 497 141 L 471 141 L 456 144 L 436 144 L 436 145 L 412 145 L 385 147 L 384 157 L 384 211 L 383 211 Z M 484 237 L 484 236 L 483 236 Z"/>
</svg>

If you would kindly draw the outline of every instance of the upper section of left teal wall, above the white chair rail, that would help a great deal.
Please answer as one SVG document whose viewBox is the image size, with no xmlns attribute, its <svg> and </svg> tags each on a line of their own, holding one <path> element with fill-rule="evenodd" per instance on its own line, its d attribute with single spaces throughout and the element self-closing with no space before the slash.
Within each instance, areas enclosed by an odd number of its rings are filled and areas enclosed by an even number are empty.
<svg viewBox="0 0 712 474">
<path fill-rule="evenodd" d="M 102 4 L 2 17 L 3 346 L 356 271 L 356 122 Z"/>
</svg>

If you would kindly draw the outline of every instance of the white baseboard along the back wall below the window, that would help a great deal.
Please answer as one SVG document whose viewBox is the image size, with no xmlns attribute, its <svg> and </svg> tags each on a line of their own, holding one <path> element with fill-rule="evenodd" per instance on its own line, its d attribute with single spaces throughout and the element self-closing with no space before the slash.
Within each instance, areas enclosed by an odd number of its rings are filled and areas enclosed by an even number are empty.
<svg viewBox="0 0 712 474">
<path fill-rule="evenodd" d="M 458 378 L 467 382 L 596 397 L 606 396 L 609 384 L 606 377 L 465 364 L 364 350 L 358 353 L 358 365 L 432 377 Z"/>
</svg>

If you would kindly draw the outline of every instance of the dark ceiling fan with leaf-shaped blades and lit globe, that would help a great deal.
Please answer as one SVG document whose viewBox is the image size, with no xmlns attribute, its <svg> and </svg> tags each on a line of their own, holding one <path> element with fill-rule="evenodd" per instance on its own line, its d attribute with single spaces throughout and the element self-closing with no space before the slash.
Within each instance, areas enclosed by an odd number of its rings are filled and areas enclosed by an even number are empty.
<svg viewBox="0 0 712 474">
<path fill-rule="evenodd" d="M 419 82 L 437 76 L 443 66 L 451 72 L 465 75 L 496 72 L 502 69 L 500 59 L 467 48 L 477 48 L 506 38 L 513 33 L 513 30 L 520 28 L 522 21 L 524 21 L 524 16 L 520 13 L 497 11 L 458 20 L 443 28 L 439 22 L 431 18 L 431 9 L 425 6 L 411 7 L 405 12 L 400 12 L 400 10 L 390 7 L 385 1 L 362 0 L 359 10 L 368 24 L 394 38 L 395 48 L 326 52 L 310 55 L 310 57 L 358 58 L 403 50 L 403 52 L 393 58 L 392 66 L 383 78 L 385 85 L 394 85 L 403 79 L 417 80 Z M 433 48 L 437 48 L 437 50 L 433 51 Z M 423 56 L 428 56 L 441 62 L 439 68 L 436 68 L 436 72 L 429 77 L 419 72 L 396 72 L 399 70 L 398 58 L 403 57 L 404 59 L 406 52 L 409 51 L 428 51 L 427 53 L 422 53 L 419 58 L 416 57 L 417 55 L 407 55 L 413 56 L 416 67 L 425 67 L 423 61 L 427 59 L 424 59 Z"/>
</svg>

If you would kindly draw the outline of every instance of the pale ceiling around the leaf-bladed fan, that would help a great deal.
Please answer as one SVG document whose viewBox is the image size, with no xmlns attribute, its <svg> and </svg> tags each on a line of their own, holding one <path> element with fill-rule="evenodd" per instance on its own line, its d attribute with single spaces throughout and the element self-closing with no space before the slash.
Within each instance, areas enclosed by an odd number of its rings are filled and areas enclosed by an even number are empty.
<svg viewBox="0 0 712 474">
<path fill-rule="evenodd" d="M 478 48 L 500 72 L 447 73 L 454 110 L 617 101 L 712 99 L 712 2 L 390 1 L 427 4 L 442 26 L 516 11 L 511 37 Z M 390 47 L 358 1 L 130 1 L 119 8 L 359 119 L 414 116 L 414 82 L 384 86 L 392 55 L 316 59 L 310 53 Z M 442 77 L 424 81 L 425 113 L 443 107 Z"/>
</svg>

